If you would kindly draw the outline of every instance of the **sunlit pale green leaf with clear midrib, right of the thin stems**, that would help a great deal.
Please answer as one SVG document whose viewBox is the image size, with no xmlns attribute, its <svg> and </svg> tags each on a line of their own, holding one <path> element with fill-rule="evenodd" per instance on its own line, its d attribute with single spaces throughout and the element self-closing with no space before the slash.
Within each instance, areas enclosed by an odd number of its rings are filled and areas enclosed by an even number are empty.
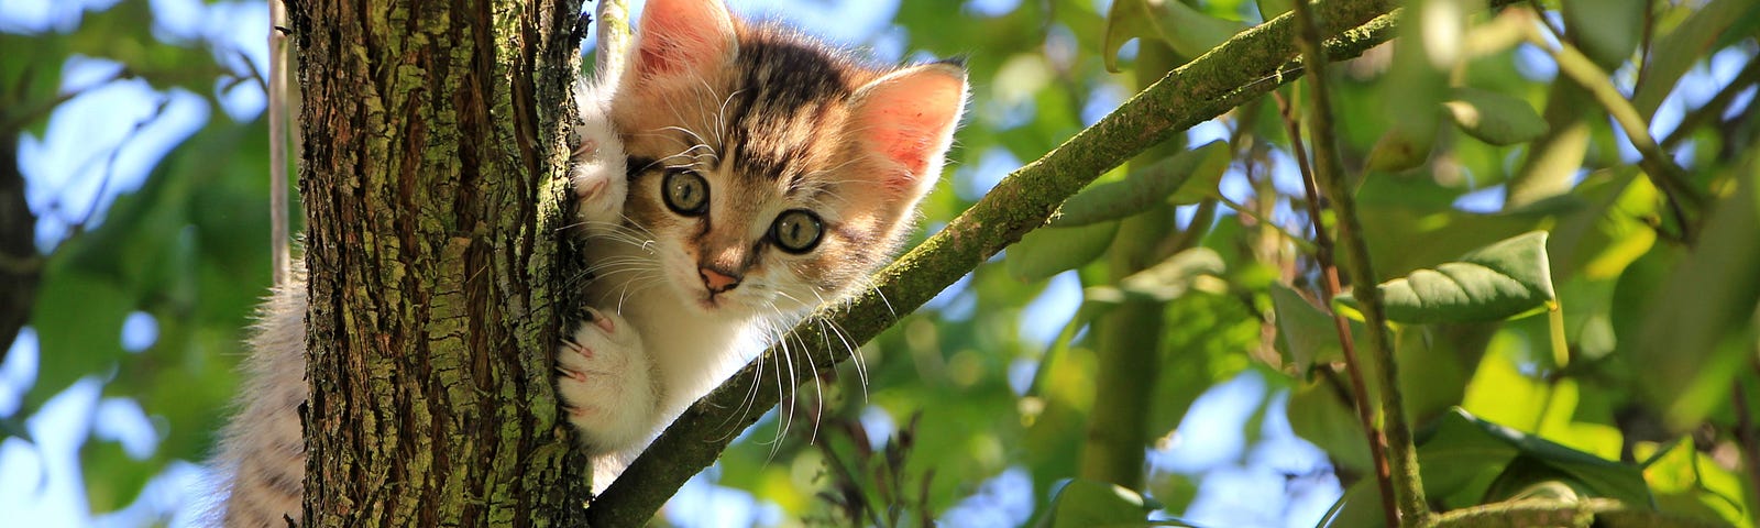
<svg viewBox="0 0 1760 528">
<path fill-rule="evenodd" d="M 1380 285 L 1394 322 L 1487 322 L 1522 315 L 1554 299 L 1545 232 L 1505 239 Z M 1355 299 L 1339 296 L 1355 308 Z"/>
</svg>

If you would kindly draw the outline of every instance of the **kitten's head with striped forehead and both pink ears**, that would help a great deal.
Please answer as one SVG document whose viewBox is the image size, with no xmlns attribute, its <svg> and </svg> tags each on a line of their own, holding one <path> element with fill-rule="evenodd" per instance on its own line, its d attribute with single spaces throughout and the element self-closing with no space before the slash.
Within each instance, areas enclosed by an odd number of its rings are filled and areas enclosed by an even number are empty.
<svg viewBox="0 0 1760 528">
<path fill-rule="evenodd" d="M 720 0 L 649 0 L 611 102 L 625 216 L 706 313 L 845 297 L 908 234 L 964 97 L 952 63 L 868 69 Z"/>
</svg>

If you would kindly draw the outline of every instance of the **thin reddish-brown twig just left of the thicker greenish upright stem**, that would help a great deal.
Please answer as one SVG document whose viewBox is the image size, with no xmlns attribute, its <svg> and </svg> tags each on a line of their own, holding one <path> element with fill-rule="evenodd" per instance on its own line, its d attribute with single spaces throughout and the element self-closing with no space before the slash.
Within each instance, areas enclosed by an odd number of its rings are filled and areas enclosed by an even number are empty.
<svg viewBox="0 0 1760 528">
<path fill-rule="evenodd" d="M 1295 120 L 1290 102 L 1278 95 L 1278 113 L 1283 114 L 1283 127 L 1290 136 L 1290 151 L 1295 165 L 1302 172 L 1302 190 L 1308 194 L 1308 218 L 1315 227 L 1315 260 L 1320 262 L 1320 306 L 1332 313 L 1332 329 L 1338 333 L 1339 350 L 1345 352 L 1345 375 L 1350 378 L 1350 396 L 1357 407 L 1357 421 L 1362 435 L 1369 442 L 1369 458 L 1375 461 L 1375 484 L 1382 491 L 1382 510 L 1387 514 L 1387 526 L 1399 526 L 1397 495 L 1394 491 L 1394 473 L 1387 459 L 1387 436 L 1375 426 L 1375 403 L 1369 401 L 1369 382 L 1362 377 L 1362 361 L 1357 359 L 1355 338 L 1350 334 L 1350 320 L 1332 308 L 1341 285 L 1338 266 L 1332 262 L 1332 236 L 1320 222 L 1320 188 L 1315 183 L 1313 165 L 1308 164 L 1308 146 L 1302 144 L 1302 130 Z"/>
</svg>

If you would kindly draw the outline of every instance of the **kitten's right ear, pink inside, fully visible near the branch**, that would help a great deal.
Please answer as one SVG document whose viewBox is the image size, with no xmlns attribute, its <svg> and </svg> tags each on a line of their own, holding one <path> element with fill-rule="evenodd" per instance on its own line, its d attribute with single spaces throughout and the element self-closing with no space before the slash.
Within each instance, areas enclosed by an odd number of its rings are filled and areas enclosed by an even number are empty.
<svg viewBox="0 0 1760 528">
<path fill-rule="evenodd" d="M 848 134 L 880 164 L 873 172 L 889 190 L 917 197 L 935 187 L 947 146 L 966 107 L 966 70 L 928 63 L 887 74 L 852 95 Z"/>
</svg>

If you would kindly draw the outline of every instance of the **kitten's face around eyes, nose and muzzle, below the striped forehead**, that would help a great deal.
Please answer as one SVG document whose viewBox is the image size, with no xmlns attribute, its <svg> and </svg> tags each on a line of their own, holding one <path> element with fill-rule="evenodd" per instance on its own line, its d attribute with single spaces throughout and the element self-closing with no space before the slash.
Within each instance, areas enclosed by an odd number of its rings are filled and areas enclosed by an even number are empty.
<svg viewBox="0 0 1760 528">
<path fill-rule="evenodd" d="M 651 234 L 665 289 L 685 304 L 730 317 L 796 312 L 843 296 L 885 255 L 876 232 L 848 227 L 848 204 L 824 180 L 790 187 L 718 162 L 725 155 L 708 146 L 681 148 L 704 155 L 644 162 L 625 215 Z"/>
</svg>

